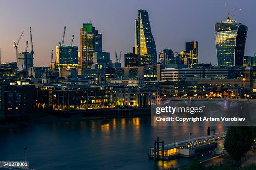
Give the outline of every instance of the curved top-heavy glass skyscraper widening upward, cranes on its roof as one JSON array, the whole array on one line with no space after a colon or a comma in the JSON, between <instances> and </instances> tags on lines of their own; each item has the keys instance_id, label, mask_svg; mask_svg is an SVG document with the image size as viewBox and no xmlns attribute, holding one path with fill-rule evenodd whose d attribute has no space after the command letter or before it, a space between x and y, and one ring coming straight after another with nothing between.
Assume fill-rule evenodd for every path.
<instances>
[{"instance_id":1,"label":"curved top-heavy glass skyscraper widening upward, cranes on its roof","mask_svg":"<svg viewBox=\"0 0 256 170\"><path fill-rule=\"evenodd\" d=\"M243 65L248 27L229 16L226 21L215 23L215 43L218 66Z\"/></svg>"}]
</instances>

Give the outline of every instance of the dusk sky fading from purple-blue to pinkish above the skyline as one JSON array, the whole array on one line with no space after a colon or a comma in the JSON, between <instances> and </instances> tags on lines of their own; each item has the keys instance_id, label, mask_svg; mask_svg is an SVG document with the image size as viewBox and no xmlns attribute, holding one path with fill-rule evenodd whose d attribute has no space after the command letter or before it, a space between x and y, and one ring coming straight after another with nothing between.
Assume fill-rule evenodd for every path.
<instances>
[{"instance_id":1,"label":"dusk sky fading from purple-blue to pinkish above the skyline","mask_svg":"<svg viewBox=\"0 0 256 170\"><path fill-rule=\"evenodd\" d=\"M235 19L248 26L245 55L256 53L256 1L254 0L1 0L0 48L1 63L14 62L13 40L21 32L18 51L25 51L32 27L34 65L49 66L51 50L61 40L64 26L64 45L69 45L74 34L74 46L80 49L82 24L89 22L102 33L102 50L110 52L115 61L118 54L132 52L135 42L137 10L147 10L151 30L159 53L165 47L174 52L185 50L186 41L199 42L199 62L217 63L214 23L226 20L227 9L241 8ZM123 55L122 55L123 66Z\"/></svg>"}]
</instances>

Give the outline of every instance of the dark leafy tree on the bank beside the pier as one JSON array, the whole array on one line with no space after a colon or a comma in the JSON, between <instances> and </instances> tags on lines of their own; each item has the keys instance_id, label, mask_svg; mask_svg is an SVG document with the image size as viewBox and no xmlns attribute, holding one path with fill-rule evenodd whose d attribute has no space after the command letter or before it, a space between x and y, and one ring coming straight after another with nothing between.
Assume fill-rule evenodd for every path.
<instances>
[{"instance_id":1,"label":"dark leafy tree on the bank beside the pier","mask_svg":"<svg viewBox=\"0 0 256 170\"><path fill-rule=\"evenodd\" d=\"M224 142L224 148L236 162L251 149L253 138L247 126L230 126Z\"/></svg>"}]
</instances>

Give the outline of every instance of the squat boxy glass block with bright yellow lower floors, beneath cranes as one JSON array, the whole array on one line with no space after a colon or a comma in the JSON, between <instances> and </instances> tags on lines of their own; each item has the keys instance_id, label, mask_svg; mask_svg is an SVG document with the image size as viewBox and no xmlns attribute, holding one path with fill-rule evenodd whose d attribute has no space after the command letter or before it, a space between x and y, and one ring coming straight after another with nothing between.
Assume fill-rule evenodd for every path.
<instances>
[{"instance_id":1,"label":"squat boxy glass block with bright yellow lower floors, beneath cranes","mask_svg":"<svg viewBox=\"0 0 256 170\"><path fill-rule=\"evenodd\" d=\"M77 68L78 47L77 46L56 46L56 68Z\"/></svg>"}]
</instances>

